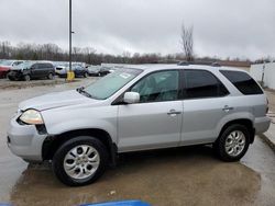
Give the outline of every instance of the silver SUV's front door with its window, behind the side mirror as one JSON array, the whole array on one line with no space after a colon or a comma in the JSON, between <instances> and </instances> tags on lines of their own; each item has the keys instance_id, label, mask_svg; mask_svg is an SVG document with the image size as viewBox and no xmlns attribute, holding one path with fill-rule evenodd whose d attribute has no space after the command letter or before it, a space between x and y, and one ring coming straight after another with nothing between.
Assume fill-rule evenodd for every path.
<instances>
[{"instance_id":1,"label":"silver SUV's front door with its window, behind the side mirror","mask_svg":"<svg viewBox=\"0 0 275 206\"><path fill-rule=\"evenodd\" d=\"M130 89L141 100L119 105L119 151L178 146L183 114L178 88L179 71L167 70L150 73Z\"/></svg>"}]
</instances>

